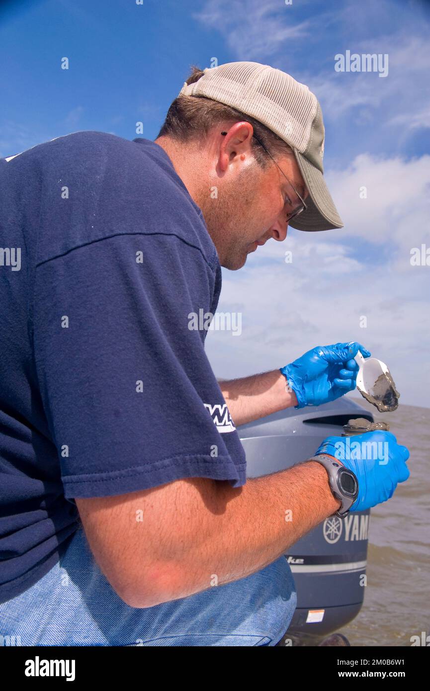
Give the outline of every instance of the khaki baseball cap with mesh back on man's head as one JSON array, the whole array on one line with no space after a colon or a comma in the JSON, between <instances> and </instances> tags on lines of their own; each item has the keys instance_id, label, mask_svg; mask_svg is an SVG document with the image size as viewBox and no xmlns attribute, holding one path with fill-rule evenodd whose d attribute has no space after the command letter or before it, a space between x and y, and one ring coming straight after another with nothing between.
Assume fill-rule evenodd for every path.
<instances>
[{"instance_id":1,"label":"khaki baseball cap with mesh back on man's head","mask_svg":"<svg viewBox=\"0 0 430 691\"><path fill-rule=\"evenodd\" d=\"M308 86L258 62L227 62L203 73L194 84L185 82L179 95L205 96L236 108L259 120L294 151L309 197L306 211L290 225L307 231L342 228L324 180L321 106Z\"/></svg>"}]
</instances>

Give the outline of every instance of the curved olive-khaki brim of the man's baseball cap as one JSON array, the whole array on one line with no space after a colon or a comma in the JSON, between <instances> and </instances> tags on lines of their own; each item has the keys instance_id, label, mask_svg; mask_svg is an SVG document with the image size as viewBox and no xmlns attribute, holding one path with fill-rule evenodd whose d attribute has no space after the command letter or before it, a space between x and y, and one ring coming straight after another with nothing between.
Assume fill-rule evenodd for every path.
<instances>
[{"instance_id":1,"label":"curved olive-khaki brim of the man's baseball cap","mask_svg":"<svg viewBox=\"0 0 430 691\"><path fill-rule=\"evenodd\" d=\"M297 230L317 231L343 228L344 223L330 196L324 176L297 149L293 149L299 169L309 191L306 211L292 218L289 224Z\"/></svg>"}]
</instances>

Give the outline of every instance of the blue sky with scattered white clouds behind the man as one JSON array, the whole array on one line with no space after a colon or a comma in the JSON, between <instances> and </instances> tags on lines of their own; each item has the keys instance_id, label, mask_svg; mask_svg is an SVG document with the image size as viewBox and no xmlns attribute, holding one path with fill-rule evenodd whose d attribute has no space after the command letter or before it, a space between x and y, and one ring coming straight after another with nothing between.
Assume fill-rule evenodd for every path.
<instances>
[{"instance_id":1,"label":"blue sky with scattered white clouds behind the man","mask_svg":"<svg viewBox=\"0 0 430 691\"><path fill-rule=\"evenodd\" d=\"M209 358L219 376L243 376L359 340L389 364L404 403L429 406L430 266L410 263L413 247L430 247L429 30L424 0L3 2L0 156L78 130L132 139L137 121L154 139L189 66L212 58L292 74L321 102L345 227L291 229L225 271L218 310L240 311L242 334L209 333ZM336 72L346 50L388 55L388 75Z\"/></svg>"}]
</instances>

